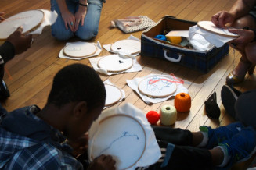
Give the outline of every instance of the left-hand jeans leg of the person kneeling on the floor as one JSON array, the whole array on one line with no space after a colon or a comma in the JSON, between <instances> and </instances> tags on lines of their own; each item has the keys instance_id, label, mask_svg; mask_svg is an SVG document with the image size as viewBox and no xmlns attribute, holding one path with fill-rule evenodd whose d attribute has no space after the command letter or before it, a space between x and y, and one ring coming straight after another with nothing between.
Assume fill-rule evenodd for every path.
<instances>
[{"instance_id":1,"label":"left-hand jeans leg of the person kneeling on the floor","mask_svg":"<svg viewBox=\"0 0 256 170\"><path fill-rule=\"evenodd\" d=\"M71 0L66 0L66 3L70 12L74 13L77 5ZM65 41L71 37L74 37L74 33L70 30L70 28L66 29L65 27L65 23L62 19L61 12L59 11L59 5L57 4L56 0L51 0L51 10L56 11L58 14L56 22L51 26L52 36L56 37L56 39L60 41Z\"/></svg>"}]
</instances>

